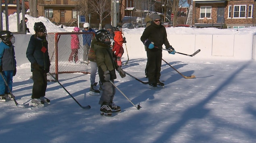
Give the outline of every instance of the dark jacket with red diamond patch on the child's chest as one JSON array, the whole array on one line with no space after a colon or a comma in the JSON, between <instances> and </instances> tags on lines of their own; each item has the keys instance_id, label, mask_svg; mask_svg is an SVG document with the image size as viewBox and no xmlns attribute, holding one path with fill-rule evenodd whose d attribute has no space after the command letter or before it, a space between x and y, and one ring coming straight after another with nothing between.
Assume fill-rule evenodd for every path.
<instances>
[{"instance_id":1,"label":"dark jacket with red diamond patch on the child's chest","mask_svg":"<svg viewBox=\"0 0 256 143\"><path fill-rule=\"evenodd\" d=\"M40 40L35 37L35 34L31 36L29 45L27 47L27 59L31 64L37 62L46 73L49 73L50 59L48 54L48 42L47 40ZM31 71L34 68L31 66Z\"/></svg>"}]
</instances>

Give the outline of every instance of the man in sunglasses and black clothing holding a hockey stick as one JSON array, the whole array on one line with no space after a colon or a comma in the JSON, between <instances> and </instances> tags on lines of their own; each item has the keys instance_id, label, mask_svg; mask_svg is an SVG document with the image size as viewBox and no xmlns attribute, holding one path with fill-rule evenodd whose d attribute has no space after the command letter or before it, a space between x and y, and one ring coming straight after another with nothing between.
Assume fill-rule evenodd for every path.
<instances>
[{"instance_id":1,"label":"man in sunglasses and black clothing holding a hockey stick","mask_svg":"<svg viewBox=\"0 0 256 143\"><path fill-rule=\"evenodd\" d=\"M148 83L151 89L155 89L157 85L164 87L164 83L160 82L160 71L162 64L162 45L171 50L170 54L175 54L174 48L167 40L165 27L161 25L160 16L152 14L152 24L145 28L140 40L147 47L148 56Z\"/></svg>"}]
</instances>

